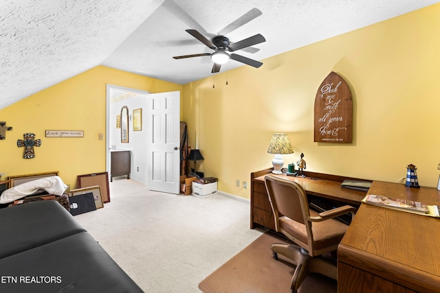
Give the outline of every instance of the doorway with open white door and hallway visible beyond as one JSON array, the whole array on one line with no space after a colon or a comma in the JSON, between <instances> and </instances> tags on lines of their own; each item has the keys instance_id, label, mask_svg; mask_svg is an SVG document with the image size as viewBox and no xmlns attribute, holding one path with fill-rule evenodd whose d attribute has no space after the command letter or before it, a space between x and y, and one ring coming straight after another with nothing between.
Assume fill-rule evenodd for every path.
<instances>
[{"instance_id":1,"label":"doorway with open white door and hallway visible beyond","mask_svg":"<svg viewBox=\"0 0 440 293\"><path fill-rule=\"evenodd\" d=\"M124 131L122 113L129 116ZM148 93L107 84L107 172L111 173L111 152L129 150L133 180L151 190L179 194L179 125L179 91Z\"/></svg>"}]
</instances>

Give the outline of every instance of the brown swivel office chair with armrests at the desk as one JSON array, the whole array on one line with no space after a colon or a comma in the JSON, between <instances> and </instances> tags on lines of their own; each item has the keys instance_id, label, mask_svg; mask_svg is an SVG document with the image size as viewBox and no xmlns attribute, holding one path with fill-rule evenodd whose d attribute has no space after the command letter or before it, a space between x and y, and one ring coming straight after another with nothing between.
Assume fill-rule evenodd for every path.
<instances>
[{"instance_id":1,"label":"brown swivel office chair with armrests at the desk","mask_svg":"<svg viewBox=\"0 0 440 293\"><path fill-rule=\"evenodd\" d=\"M311 272L336 280L336 263L322 254L337 250L349 227L333 218L345 213L351 213L353 218L356 209L347 205L318 213L309 209L305 190L298 183L266 175L265 186L274 213L275 230L297 244L272 244L270 248L274 259L278 259L280 253L296 264L292 293L296 293Z\"/></svg>"}]
</instances>

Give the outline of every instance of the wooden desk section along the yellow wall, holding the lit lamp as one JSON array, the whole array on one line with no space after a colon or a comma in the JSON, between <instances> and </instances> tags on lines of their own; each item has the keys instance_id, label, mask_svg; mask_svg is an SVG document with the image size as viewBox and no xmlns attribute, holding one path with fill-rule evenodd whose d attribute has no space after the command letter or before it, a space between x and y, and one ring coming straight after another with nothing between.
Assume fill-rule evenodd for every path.
<instances>
[{"instance_id":1,"label":"wooden desk section along the yellow wall, holding the lit lamp","mask_svg":"<svg viewBox=\"0 0 440 293\"><path fill-rule=\"evenodd\" d=\"M275 229L274 214L270 207L269 198L267 196L264 184L264 176L270 174L272 168L250 174L251 180L251 196L250 196L250 228L256 225L265 226ZM344 180L361 180L358 178L334 176L329 174L305 172L306 178L283 175L283 179L292 180L299 183L305 189L308 196L318 196L325 198L336 207L351 204L359 207L361 200L365 197L366 192L346 189L341 187Z\"/></svg>"}]
</instances>

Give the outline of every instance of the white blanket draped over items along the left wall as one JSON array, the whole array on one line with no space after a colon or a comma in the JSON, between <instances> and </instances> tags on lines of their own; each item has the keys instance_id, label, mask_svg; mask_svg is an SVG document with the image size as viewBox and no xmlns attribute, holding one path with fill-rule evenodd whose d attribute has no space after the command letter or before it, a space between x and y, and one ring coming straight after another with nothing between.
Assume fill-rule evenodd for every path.
<instances>
[{"instance_id":1,"label":"white blanket draped over items along the left wall","mask_svg":"<svg viewBox=\"0 0 440 293\"><path fill-rule=\"evenodd\" d=\"M59 176L50 176L17 185L10 189L6 189L0 196L0 204L7 204L14 200L19 200L25 196L29 196L39 189L44 189L48 194L61 196L67 189L67 185Z\"/></svg>"}]
</instances>

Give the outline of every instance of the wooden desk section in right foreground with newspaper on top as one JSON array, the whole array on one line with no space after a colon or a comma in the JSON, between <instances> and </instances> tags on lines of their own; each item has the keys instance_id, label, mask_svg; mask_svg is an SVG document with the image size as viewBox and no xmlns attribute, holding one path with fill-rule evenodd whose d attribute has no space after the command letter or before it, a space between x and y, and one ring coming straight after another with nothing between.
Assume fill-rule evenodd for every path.
<instances>
[{"instance_id":1,"label":"wooden desk section in right foreground with newspaper on top","mask_svg":"<svg viewBox=\"0 0 440 293\"><path fill-rule=\"evenodd\" d=\"M440 207L435 188L374 181L369 194ZM362 204L338 248L338 292L440 292L440 219Z\"/></svg>"}]
</instances>

